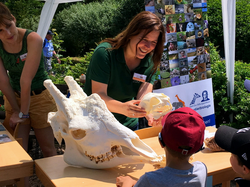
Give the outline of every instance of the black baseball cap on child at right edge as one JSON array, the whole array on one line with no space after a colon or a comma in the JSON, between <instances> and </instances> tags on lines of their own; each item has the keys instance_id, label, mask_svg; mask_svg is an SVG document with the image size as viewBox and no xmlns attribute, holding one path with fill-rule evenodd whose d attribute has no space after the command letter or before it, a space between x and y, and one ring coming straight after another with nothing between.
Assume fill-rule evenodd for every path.
<instances>
[{"instance_id":1,"label":"black baseball cap on child at right edge","mask_svg":"<svg viewBox=\"0 0 250 187\"><path fill-rule=\"evenodd\" d=\"M250 169L250 127L235 129L220 126L215 133L215 142L226 151L237 156L239 165Z\"/></svg>"}]
</instances>

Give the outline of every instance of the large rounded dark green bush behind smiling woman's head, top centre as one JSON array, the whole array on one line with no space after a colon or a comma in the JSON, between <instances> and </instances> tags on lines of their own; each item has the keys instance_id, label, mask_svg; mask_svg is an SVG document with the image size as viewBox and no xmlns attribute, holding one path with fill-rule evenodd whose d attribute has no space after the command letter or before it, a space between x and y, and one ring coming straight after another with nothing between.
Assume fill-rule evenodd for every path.
<instances>
[{"instance_id":1,"label":"large rounded dark green bush behind smiling woman's head, top centre","mask_svg":"<svg viewBox=\"0 0 250 187\"><path fill-rule=\"evenodd\" d=\"M62 34L68 56L81 56L96 42L114 37L137 13L144 1L106 0L89 4L77 3L55 16L53 28Z\"/></svg>"}]
</instances>

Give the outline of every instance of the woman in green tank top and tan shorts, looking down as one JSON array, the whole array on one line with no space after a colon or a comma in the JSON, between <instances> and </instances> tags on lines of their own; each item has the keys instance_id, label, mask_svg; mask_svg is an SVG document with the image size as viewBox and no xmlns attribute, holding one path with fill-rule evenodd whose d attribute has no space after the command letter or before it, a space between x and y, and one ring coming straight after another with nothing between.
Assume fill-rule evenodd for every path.
<instances>
[{"instance_id":1,"label":"woman in green tank top and tan shorts, looking down","mask_svg":"<svg viewBox=\"0 0 250 187\"><path fill-rule=\"evenodd\" d=\"M3 125L22 138L26 151L33 127L43 156L49 157L57 154L47 122L56 104L43 86L49 77L44 69L42 45L43 39L36 32L17 27L15 17L0 3L0 90L6 115Z\"/></svg>"}]
</instances>

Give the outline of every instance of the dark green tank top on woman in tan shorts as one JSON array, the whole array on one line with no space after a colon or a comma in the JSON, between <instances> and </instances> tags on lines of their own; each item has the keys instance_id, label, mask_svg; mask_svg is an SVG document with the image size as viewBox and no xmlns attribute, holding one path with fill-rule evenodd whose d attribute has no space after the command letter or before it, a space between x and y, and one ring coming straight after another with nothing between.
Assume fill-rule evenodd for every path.
<instances>
[{"instance_id":1,"label":"dark green tank top on woman in tan shorts","mask_svg":"<svg viewBox=\"0 0 250 187\"><path fill-rule=\"evenodd\" d=\"M25 64L25 55L27 55L27 36L32 31L26 30L23 37L22 49L19 53L8 53L3 48L3 43L0 40L0 57L2 58L3 65L9 71L10 84L15 91L20 91L20 78ZM47 72L44 69L43 53L41 54L40 65L32 80L31 90L42 89L43 81L49 79Z\"/></svg>"}]
</instances>

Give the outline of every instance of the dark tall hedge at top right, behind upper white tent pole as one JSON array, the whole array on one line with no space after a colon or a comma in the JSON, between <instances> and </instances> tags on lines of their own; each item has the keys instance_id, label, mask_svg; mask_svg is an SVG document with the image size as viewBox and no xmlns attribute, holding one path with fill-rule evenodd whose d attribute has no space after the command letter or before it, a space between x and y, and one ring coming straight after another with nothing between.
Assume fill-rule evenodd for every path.
<instances>
[{"instance_id":1,"label":"dark tall hedge at top right, behind upper white tent pole","mask_svg":"<svg viewBox=\"0 0 250 187\"><path fill-rule=\"evenodd\" d=\"M221 0L208 0L208 21L209 37L215 46L220 50L224 48L223 21ZM250 1L236 1L236 41L235 41L235 59L250 62L248 49L250 47Z\"/></svg>"}]
</instances>

